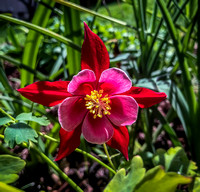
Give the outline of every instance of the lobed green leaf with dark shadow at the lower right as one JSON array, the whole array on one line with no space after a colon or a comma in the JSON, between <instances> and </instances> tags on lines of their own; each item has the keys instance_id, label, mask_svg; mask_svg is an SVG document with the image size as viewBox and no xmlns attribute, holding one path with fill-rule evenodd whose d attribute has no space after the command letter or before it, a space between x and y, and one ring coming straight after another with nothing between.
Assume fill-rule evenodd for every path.
<instances>
[{"instance_id":1,"label":"lobed green leaf with dark shadow at the lower right","mask_svg":"<svg viewBox=\"0 0 200 192\"><path fill-rule=\"evenodd\" d=\"M187 158L185 151L181 147L170 148L167 152L163 149L157 150L157 155L153 158L154 165L162 165L165 171L178 172L180 174L195 175L197 166Z\"/></svg>"}]
</instances>

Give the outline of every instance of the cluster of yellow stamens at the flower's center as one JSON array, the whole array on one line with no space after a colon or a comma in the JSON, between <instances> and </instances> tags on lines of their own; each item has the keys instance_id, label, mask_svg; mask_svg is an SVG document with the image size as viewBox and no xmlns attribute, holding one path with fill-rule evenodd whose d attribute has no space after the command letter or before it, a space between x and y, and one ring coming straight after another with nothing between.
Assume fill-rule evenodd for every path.
<instances>
[{"instance_id":1,"label":"cluster of yellow stamens at the flower's center","mask_svg":"<svg viewBox=\"0 0 200 192\"><path fill-rule=\"evenodd\" d=\"M86 95L86 97L84 98L86 100L85 106L88 110L90 110L90 113L94 114L94 119L96 119L97 117L102 118L103 114L110 115L110 98L108 97L108 95L103 96L102 94L103 90L94 90L91 91L91 95Z\"/></svg>"}]
</instances>

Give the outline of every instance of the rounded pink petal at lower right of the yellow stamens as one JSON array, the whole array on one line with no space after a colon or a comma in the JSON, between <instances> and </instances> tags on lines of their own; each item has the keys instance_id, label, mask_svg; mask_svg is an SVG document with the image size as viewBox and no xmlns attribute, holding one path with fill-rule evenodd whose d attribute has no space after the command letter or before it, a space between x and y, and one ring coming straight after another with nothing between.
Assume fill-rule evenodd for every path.
<instances>
[{"instance_id":1,"label":"rounded pink petal at lower right of the yellow stamens","mask_svg":"<svg viewBox=\"0 0 200 192\"><path fill-rule=\"evenodd\" d=\"M117 126L133 124L137 119L138 104L130 96L116 95L111 96L111 110L108 118Z\"/></svg>"}]
</instances>

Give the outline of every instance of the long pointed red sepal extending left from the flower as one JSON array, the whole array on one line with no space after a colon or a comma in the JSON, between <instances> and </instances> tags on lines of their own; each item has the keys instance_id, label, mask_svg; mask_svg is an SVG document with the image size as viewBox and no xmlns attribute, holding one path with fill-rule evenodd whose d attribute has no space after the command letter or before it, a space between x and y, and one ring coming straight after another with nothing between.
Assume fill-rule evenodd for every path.
<instances>
[{"instance_id":1,"label":"long pointed red sepal extending left from the flower","mask_svg":"<svg viewBox=\"0 0 200 192\"><path fill-rule=\"evenodd\" d=\"M71 96L67 91L68 84L69 81L39 81L18 89L17 91L35 103L52 107Z\"/></svg>"}]
</instances>

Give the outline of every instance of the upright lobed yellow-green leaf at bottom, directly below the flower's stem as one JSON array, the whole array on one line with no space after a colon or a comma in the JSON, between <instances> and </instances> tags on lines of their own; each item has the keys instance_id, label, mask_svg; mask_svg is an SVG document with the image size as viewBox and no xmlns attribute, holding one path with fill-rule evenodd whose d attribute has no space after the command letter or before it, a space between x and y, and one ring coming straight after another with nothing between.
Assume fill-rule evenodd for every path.
<instances>
[{"instance_id":1,"label":"upright lobed yellow-green leaf at bottom, directly below the flower's stem","mask_svg":"<svg viewBox=\"0 0 200 192\"><path fill-rule=\"evenodd\" d=\"M131 161L131 168L126 175L125 169L120 169L107 185L104 192L131 192L144 177L145 169L140 156L135 156Z\"/></svg>"}]
</instances>

